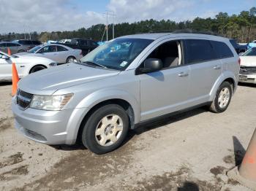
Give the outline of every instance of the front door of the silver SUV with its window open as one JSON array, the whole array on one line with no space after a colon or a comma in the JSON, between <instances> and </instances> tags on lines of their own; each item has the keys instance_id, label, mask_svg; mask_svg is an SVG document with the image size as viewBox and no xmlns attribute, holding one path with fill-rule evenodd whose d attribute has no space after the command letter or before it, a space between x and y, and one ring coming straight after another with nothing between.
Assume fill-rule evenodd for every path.
<instances>
[{"instance_id":1,"label":"front door of the silver SUV with its window open","mask_svg":"<svg viewBox=\"0 0 256 191\"><path fill-rule=\"evenodd\" d=\"M141 121L186 108L190 69L182 61L182 52L182 41L167 41L159 43L148 55L147 58L162 60L164 68L160 71L138 74Z\"/></svg>"}]
</instances>

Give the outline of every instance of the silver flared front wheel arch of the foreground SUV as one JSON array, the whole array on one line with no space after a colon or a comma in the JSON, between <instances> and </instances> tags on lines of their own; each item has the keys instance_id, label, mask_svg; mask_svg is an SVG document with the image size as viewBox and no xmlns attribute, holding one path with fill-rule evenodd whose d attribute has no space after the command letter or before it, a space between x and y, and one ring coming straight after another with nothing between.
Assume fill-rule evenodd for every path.
<instances>
[{"instance_id":1,"label":"silver flared front wheel arch of the foreground SUV","mask_svg":"<svg viewBox=\"0 0 256 191\"><path fill-rule=\"evenodd\" d=\"M81 130L88 117L96 109L106 104L117 104L124 108L129 116L130 128L133 129L135 124L140 121L140 106L132 95L129 95L124 90L99 90L83 98L76 106L77 109L82 111L78 115L74 113L71 117L77 119L76 124L72 120L69 121L70 124L67 127L68 144L73 144L73 141L80 139Z\"/></svg>"}]
</instances>

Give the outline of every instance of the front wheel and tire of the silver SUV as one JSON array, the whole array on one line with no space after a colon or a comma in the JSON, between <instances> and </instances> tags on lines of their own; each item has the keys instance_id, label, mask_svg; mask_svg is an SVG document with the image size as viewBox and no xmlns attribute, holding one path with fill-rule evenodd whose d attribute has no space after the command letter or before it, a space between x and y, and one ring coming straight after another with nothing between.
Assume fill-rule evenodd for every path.
<instances>
[{"instance_id":1,"label":"front wheel and tire of the silver SUV","mask_svg":"<svg viewBox=\"0 0 256 191\"><path fill-rule=\"evenodd\" d=\"M129 117L124 109L116 104L108 104L90 115L81 139L85 147L100 155L121 146L128 130Z\"/></svg>"}]
</instances>

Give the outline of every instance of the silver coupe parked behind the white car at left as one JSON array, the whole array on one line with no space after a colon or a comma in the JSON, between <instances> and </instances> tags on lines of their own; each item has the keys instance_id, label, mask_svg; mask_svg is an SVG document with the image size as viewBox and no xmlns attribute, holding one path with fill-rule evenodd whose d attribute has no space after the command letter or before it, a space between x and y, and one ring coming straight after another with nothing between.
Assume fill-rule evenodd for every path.
<instances>
[{"instance_id":1,"label":"silver coupe parked behind the white car at left","mask_svg":"<svg viewBox=\"0 0 256 191\"><path fill-rule=\"evenodd\" d=\"M49 58L56 63L71 63L83 58L82 50L72 49L61 44L44 44L32 48L28 52L21 52L16 55L38 56Z\"/></svg>"}]
</instances>

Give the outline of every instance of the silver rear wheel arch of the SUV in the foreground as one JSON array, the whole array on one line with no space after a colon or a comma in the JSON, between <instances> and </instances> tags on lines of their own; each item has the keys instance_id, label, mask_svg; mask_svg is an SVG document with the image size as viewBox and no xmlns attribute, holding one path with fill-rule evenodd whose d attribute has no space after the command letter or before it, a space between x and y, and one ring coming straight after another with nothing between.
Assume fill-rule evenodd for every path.
<instances>
[{"instance_id":1,"label":"silver rear wheel arch of the SUV in the foreground","mask_svg":"<svg viewBox=\"0 0 256 191\"><path fill-rule=\"evenodd\" d=\"M228 79L228 78L233 79L233 81L236 83L236 84L235 84L235 90L236 90L237 82L236 82L236 77L235 77L235 75L234 75L233 72L231 72L231 71L224 71L224 72L222 73L222 75L220 75L219 78L216 80L216 82L214 83L214 86L211 88L210 100L209 100L209 101L213 101L213 100L214 100L215 95L216 95L216 93L217 93L217 90L218 90L219 86L222 84L222 82L225 81L225 79ZM235 90L234 90L234 91L235 91Z\"/></svg>"}]
</instances>

